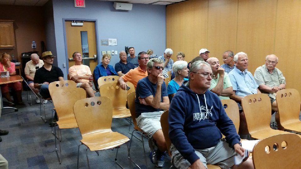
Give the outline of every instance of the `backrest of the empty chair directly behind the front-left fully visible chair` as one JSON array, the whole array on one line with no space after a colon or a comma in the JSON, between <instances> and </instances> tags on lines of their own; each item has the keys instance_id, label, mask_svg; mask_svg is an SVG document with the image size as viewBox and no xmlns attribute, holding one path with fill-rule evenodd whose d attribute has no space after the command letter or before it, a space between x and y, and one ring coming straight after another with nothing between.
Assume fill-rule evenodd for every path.
<instances>
[{"instance_id":1,"label":"backrest of the empty chair directly behind the front-left fully visible chair","mask_svg":"<svg viewBox=\"0 0 301 169\"><path fill-rule=\"evenodd\" d=\"M52 93L52 100L59 120L74 119L73 105L84 98L86 98L86 91L80 87L56 89Z\"/></svg>"}]
</instances>

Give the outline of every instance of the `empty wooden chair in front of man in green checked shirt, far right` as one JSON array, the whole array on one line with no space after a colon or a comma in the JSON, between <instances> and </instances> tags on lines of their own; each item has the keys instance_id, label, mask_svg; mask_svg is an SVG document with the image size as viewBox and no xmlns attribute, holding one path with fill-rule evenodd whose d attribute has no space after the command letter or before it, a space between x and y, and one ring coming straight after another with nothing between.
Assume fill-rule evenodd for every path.
<instances>
[{"instance_id":1,"label":"empty wooden chair in front of man in green checked shirt, far right","mask_svg":"<svg viewBox=\"0 0 301 169\"><path fill-rule=\"evenodd\" d=\"M282 89L276 94L281 125L286 130L301 132L300 94L296 89Z\"/></svg>"}]
</instances>

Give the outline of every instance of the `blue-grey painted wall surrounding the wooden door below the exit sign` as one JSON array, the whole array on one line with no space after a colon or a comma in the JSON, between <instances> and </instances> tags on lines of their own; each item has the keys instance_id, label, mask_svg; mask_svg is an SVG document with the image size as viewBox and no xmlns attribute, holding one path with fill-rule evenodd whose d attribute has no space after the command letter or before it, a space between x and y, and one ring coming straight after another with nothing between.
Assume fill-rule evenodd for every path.
<instances>
[{"instance_id":1,"label":"blue-grey painted wall surrounding the wooden door below the exit sign","mask_svg":"<svg viewBox=\"0 0 301 169\"><path fill-rule=\"evenodd\" d=\"M63 67L66 63L63 18L97 19L98 56L101 56L102 50L117 50L119 53L125 46L133 46L136 55L148 49L154 50L158 56L164 53L165 5L133 3L131 11L124 11L114 9L113 2L109 1L86 0L86 8L75 8L74 0L53 0L52 4L57 61L65 78L68 66ZM46 34L50 32L47 30ZM117 46L101 46L101 40L108 38L117 38ZM49 42L47 45L50 45ZM110 65L115 66L118 61L119 55L113 55Z\"/></svg>"}]
</instances>

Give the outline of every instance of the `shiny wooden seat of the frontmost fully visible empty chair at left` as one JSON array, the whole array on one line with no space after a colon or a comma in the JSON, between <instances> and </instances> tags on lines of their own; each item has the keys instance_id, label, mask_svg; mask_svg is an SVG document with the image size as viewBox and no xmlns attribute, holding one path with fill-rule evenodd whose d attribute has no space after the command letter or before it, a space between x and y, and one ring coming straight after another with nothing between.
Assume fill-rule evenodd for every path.
<instances>
[{"instance_id":1,"label":"shiny wooden seat of the frontmost fully visible empty chair at left","mask_svg":"<svg viewBox=\"0 0 301 169\"><path fill-rule=\"evenodd\" d=\"M93 134L83 135L81 142L89 147L90 151L98 151L115 148L129 140L128 137L118 132L98 131Z\"/></svg>"}]
</instances>

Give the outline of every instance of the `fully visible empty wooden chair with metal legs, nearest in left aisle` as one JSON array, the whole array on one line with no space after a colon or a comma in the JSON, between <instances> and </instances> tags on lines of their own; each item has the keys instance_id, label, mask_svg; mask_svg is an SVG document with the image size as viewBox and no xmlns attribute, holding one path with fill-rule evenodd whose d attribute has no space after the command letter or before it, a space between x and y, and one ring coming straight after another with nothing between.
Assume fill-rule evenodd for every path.
<instances>
[{"instance_id":1,"label":"fully visible empty wooden chair with metal legs, nearest in left aisle","mask_svg":"<svg viewBox=\"0 0 301 169\"><path fill-rule=\"evenodd\" d=\"M80 129L82 140L81 144L87 146L86 158L89 165L87 150L100 151L117 148L115 162L117 162L117 153L120 145L130 139L111 129L113 116L113 103L107 97L85 98L77 101L73 106L75 118ZM77 168L79 160L79 148L77 153ZM98 152L97 152L98 154ZM99 155L99 154L98 154ZM120 166L122 168L122 166Z\"/></svg>"}]
</instances>

